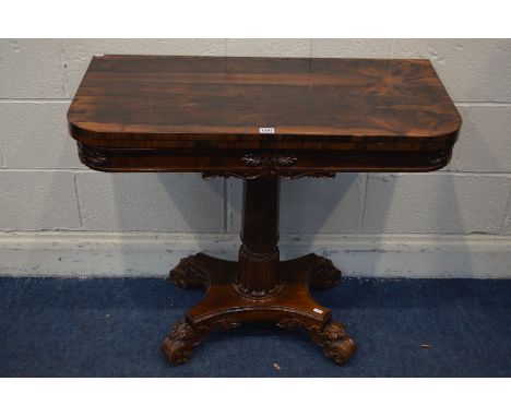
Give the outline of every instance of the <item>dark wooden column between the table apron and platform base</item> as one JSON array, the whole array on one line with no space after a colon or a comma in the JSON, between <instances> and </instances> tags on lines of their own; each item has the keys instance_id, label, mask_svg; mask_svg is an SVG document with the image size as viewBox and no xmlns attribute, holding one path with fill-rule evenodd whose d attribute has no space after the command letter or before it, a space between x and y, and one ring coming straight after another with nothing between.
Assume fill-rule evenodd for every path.
<instances>
[{"instance_id":1,"label":"dark wooden column between the table apron and platform base","mask_svg":"<svg viewBox=\"0 0 511 417\"><path fill-rule=\"evenodd\" d=\"M235 286L249 297L268 297L278 289L278 177L245 180Z\"/></svg>"}]
</instances>

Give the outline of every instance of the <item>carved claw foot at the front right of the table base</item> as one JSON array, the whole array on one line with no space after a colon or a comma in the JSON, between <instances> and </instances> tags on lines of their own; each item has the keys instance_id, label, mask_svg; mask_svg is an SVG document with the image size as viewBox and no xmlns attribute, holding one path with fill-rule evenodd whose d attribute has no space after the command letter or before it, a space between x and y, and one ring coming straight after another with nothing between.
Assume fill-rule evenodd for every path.
<instances>
[{"instance_id":1,"label":"carved claw foot at the front right of the table base","mask_svg":"<svg viewBox=\"0 0 511 417\"><path fill-rule=\"evenodd\" d=\"M323 348L323 354L337 365L346 364L357 349L355 342L346 335L344 324L332 322L322 331L310 331L312 339Z\"/></svg>"}]
</instances>

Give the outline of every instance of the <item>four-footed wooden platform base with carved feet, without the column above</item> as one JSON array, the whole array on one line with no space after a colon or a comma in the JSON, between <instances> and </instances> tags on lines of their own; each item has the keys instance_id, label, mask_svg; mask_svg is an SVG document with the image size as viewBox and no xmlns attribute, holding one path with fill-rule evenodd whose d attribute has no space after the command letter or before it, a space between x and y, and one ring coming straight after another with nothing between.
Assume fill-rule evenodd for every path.
<instances>
[{"instance_id":1,"label":"four-footed wooden platform base with carved feet, without the column above","mask_svg":"<svg viewBox=\"0 0 511 417\"><path fill-rule=\"evenodd\" d=\"M311 288L328 288L341 278L332 262L308 254L278 264L281 285L271 296L253 298L236 285L238 263L198 253L185 258L170 271L169 279L183 288L204 288L204 299L188 310L186 321L175 324L162 344L170 364L182 364L209 333L228 330L243 322L274 322L286 330L304 329L324 355L338 365L356 350L344 325L332 321L331 311L316 302Z\"/></svg>"}]
</instances>

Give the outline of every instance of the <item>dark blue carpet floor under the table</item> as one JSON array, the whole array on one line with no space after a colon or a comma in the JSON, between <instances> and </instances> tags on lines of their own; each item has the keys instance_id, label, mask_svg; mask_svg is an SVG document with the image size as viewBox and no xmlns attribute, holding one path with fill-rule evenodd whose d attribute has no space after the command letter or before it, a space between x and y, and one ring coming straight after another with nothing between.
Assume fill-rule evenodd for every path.
<instances>
[{"instance_id":1,"label":"dark blue carpet floor under the table","mask_svg":"<svg viewBox=\"0 0 511 417\"><path fill-rule=\"evenodd\" d=\"M167 365L159 344L201 295L164 279L0 278L0 377L511 377L511 279L344 278L313 293L358 344L344 367L264 324Z\"/></svg>"}]
</instances>

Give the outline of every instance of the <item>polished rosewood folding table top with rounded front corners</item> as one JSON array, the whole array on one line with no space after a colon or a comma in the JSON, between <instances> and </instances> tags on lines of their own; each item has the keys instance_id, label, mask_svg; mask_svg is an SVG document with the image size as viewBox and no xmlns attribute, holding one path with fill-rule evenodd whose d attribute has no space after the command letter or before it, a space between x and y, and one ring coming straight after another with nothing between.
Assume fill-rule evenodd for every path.
<instances>
[{"instance_id":1,"label":"polished rosewood folding table top with rounded front corners","mask_svg":"<svg viewBox=\"0 0 511 417\"><path fill-rule=\"evenodd\" d=\"M84 146L178 151L439 152L461 127L428 60L116 55L68 121Z\"/></svg>"}]
</instances>

